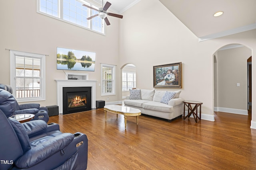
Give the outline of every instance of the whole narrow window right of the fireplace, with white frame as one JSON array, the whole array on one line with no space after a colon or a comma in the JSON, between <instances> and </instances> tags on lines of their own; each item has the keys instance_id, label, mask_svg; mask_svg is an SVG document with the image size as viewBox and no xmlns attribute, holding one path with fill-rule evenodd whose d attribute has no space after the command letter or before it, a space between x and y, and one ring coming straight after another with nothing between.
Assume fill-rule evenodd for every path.
<instances>
[{"instance_id":1,"label":"whole narrow window right of the fireplace, with white frame","mask_svg":"<svg viewBox=\"0 0 256 170\"><path fill-rule=\"evenodd\" d=\"M116 66L109 64L101 64L101 95L115 95L115 72Z\"/></svg>"}]
</instances>

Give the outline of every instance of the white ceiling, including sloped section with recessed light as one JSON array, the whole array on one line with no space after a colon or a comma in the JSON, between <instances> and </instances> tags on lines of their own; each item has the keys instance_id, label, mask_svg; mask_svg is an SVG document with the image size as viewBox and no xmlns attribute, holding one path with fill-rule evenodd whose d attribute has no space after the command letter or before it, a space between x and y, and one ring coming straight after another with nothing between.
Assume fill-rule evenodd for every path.
<instances>
[{"instance_id":1,"label":"white ceiling, including sloped section with recessed light","mask_svg":"<svg viewBox=\"0 0 256 170\"><path fill-rule=\"evenodd\" d=\"M102 4L102 0L94 0ZM103 0L110 10L121 14L140 0ZM199 41L256 29L256 0L159 0ZM224 14L214 17L213 14Z\"/></svg>"}]
</instances>

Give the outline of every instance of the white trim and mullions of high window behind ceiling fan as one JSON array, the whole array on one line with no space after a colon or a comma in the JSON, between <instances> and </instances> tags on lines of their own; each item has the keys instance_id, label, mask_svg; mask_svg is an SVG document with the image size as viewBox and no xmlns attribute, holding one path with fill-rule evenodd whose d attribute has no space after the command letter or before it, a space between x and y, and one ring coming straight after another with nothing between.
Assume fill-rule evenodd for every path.
<instances>
[{"instance_id":1,"label":"white trim and mullions of high window behind ceiling fan","mask_svg":"<svg viewBox=\"0 0 256 170\"><path fill-rule=\"evenodd\" d=\"M38 13L38 14L42 14L42 15L44 15L44 16L48 16L48 17L50 17L50 18L54 18L54 19L56 19L56 20L59 20L59 21L63 21L63 22L66 22L66 23L69 23L69 24L71 24L71 25L74 25L74 26L77 26L77 27L80 27L80 28L83 28L83 29L87 29L87 30L89 30L89 31L92 31L92 32L95 32L95 33L98 33L98 34L101 34L101 35L106 35L106 24L105 24L105 22L102 20L102 23L103 23L103 29L102 29L102 31L103 31L103 33L101 33L101 32L98 32L98 31L94 31L93 29L92 29L92 21L91 20L89 20L89 25L90 25L90 27L91 28L87 28L87 27L83 27L83 26L81 26L81 25L77 25L76 23L72 23L72 22L70 22L70 21L66 21L66 20L63 20L63 18L62 18L62 16L61 15L63 15L63 10L60 10L60 8L61 7L63 7L63 2L60 2L61 0L58 0L58 4L59 4L59 6L58 6L58 10L59 10L59 12L58 12L58 17L54 17L54 16L51 16L51 15L49 15L49 14L46 14L46 13L44 13L44 12L41 12L40 11L40 0L36 0L36 12ZM81 3L85 3L85 2L82 2L81 0L77 0L77 1L79 1L79 2L81 2ZM86 3L89 3L89 2L86 2ZM94 5L93 3L89 3L90 5L93 5L93 6L96 6L96 5ZM88 10L91 10L91 9L88 9ZM91 12L90 12L91 13Z\"/></svg>"}]
</instances>

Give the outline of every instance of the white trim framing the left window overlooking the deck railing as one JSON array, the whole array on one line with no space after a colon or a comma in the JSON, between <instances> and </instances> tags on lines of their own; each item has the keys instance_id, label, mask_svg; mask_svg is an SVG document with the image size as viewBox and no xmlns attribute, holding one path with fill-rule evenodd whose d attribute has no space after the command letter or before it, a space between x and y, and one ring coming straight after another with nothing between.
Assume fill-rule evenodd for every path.
<instances>
[{"instance_id":1,"label":"white trim framing the left window overlooking the deck railing","mask_svg":"<svg viewBox=\"0 0 256 170\"><path fill-rule=\"evenodd\" d=\"M41 82L40 82L40 97L34 98L16 98L16 55L24 55L30 57L38 57L41 59ZM22 51L14 51L10 50L10 86L13 89L13 96L16 98L17 102L34 102L34 101L42 101L46 100L46 55L35 54L35 53L27 53Z\"/></svg>"}]
</instances>

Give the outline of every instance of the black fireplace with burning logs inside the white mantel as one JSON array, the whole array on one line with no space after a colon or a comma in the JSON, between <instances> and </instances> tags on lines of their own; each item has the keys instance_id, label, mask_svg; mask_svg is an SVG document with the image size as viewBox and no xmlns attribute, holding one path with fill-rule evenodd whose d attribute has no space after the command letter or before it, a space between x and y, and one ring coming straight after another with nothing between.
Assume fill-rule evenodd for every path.
<instances>
[{"instance_id":1,"label":"black fireplace with burning logs inside the white mantel","mask_svg":"<svg viewBox=\"0 0 256 170\"><path fill-rule=\"evenodd\" d=\"M63 87L63 115L91 110L91 87Z\"/></svg>"}]
</instances>

